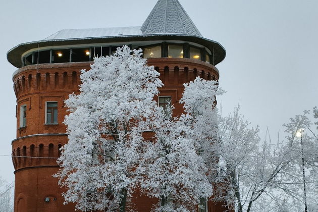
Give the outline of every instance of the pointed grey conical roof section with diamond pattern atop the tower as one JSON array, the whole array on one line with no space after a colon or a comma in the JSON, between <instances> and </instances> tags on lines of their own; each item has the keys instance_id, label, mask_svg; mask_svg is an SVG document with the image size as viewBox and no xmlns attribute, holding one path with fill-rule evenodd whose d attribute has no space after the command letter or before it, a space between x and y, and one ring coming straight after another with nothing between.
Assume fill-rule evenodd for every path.
<instances>
[{"instance_id":1,"label":"pointed grey conical roof section with diamond pattern atop the tower","mask_svg":"<svg viewBox=\"0 0 318 212\"><path fill-rule=\"evenodd\" d=\"M143 23L144 34L187 34L202 37L178 0L158 0Z\"/></svg>"}]
</instances>

